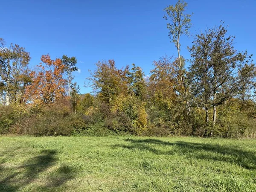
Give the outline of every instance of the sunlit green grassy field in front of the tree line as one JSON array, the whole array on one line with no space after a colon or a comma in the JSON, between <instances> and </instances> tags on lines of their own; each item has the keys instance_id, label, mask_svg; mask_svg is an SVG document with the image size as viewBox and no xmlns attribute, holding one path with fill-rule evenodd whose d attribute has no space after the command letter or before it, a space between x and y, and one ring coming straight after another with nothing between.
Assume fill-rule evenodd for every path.
<instances>
[{"instance_id":1,"label":"sunlit green grassy field in front of the tree line","mask_svg":"<svg viewBox=\"0 0 256 192\"><path fill-rule=\"evenodd\" d=\"M0 191L256 191L256 140L0 137Z\"/></svg>"}]
</instances>

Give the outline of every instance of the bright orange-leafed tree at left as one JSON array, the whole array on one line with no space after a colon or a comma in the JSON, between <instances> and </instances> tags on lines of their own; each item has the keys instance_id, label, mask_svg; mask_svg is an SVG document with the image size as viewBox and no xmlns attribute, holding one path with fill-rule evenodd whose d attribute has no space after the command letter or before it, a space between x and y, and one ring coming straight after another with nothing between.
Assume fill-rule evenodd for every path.
<instances>
[{"instance_id":1,"label":"bright orange-leafed tree at left","mask_svg":"<svg viewBox=\"0 0 256 192\"><path fill-rule=\"evenodd\" d=\"M32 102L50 104L65 96L67 80L64 79L65 65L60 58L52 60L42 55L37 71L31 72L32 83L27 86L27 96Z\"/></svg>"}]
</instances>

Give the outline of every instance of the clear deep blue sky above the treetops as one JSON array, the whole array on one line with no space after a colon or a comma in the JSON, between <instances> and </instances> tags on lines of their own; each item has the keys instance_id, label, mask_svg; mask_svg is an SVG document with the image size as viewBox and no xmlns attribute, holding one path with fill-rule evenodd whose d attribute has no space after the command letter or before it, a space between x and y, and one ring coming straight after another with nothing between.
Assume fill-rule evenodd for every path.
<instances>
[{"instance_id":1,"label":"clear deep blue sky above the treetops","mask_svg":"<svg viewBox=\"0 0 256 192\"><path fill-rule=\"evenodd\" d=\"M236 36L235 48L256 54L256 0L187 0L193 12L191 34L207 27L229 25ZM81 73L74 73L81 93L84 79L99 60L114 59L118 67L135 63L145 75L152 61L177 55L169 42L163 9L176 0L2 0L0 37L25 47L40 63L41 55L52 58L76 56ZM182 37L181 54L193 37ZM255 55L253 58L256 58Z\"/></svg>"}]
</instances>

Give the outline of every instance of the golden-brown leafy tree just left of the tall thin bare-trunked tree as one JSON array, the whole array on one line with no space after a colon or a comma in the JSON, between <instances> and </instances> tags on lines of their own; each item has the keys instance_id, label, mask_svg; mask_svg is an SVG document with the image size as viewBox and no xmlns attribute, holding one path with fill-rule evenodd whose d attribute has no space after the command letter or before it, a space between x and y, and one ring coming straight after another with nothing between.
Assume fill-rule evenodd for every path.
<instances>
[{"instance_id":1,"label":"golden-brown leafy tree just left of the tall thin bare-trunked tree","mask_svg":"<svg viewBox=\"0 0 256 192\"><path fill-rule=\"evenodd\" d=\"M177 77L173 57L165 56L153 61L153 65L147 87L148 116L151 122L159 122L159 126L166 122L175 124L175 110L180 107L180 102L175 90Z\"/></svg>"}]
</instances>

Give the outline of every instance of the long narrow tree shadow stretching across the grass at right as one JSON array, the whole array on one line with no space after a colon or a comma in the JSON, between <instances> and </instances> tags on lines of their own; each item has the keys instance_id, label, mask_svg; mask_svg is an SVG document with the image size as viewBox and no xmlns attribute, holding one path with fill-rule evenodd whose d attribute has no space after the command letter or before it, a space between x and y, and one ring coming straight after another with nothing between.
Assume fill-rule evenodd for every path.
<instances>
[{"instance_id":1,"label":"long narrow tree shadow stretching across the grass at right","mask_svg":"<svg viewBox=\"0 0 256 192\"><path fill-rule=\"evenodd\" d=\"M114 145L113 147L150 151L158 155L186 155L195 159L235 163L245 169L256 169L255 151L242 150L234 145L192 143L184 141L170 143L157 139L126 139L125 141L129 142L130 145ZM170 149L168 147L165 147L165 150L159 149L159 146L161 145L170 146Z\"/></svg>"}]
</instances>

